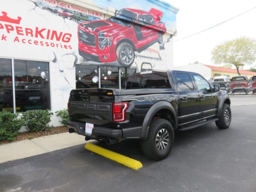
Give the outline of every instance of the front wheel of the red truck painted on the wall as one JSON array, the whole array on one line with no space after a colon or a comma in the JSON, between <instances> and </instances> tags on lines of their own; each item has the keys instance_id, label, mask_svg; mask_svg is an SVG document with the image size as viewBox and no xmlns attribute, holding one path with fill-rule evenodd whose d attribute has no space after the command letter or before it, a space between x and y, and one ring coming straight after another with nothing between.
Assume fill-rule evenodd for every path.
<instances>
[{"instance_id":1,"label":"front wheel of the red truck painted on the wall","mask_svg":"<svg viewBox=\"0 0 256 192\"><path fill-rule=\"evenodd\" d=\"M123 67L130 67L134 61L135 53L128 42L120 43L116 49L117 61Z\"/></svg>"}]
</instances>

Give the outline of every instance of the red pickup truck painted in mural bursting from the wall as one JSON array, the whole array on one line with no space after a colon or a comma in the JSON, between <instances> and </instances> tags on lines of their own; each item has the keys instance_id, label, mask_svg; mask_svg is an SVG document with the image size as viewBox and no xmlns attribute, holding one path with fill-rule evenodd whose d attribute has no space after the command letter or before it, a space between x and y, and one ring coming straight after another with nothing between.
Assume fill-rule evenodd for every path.
<instances>
[{"instance_id":1,"label":"red pickup truck painted in mural bursting from the wall","mask_svg":"<svg viewBox=\"0 0 256 192\"><path fill-rule=\"evenodd\" d=\"M160 22L163 12L123 8L106 20L81 23L78 26L80 56L90 61L118 61L123 67L132 65L135 50L140 53L155 42L162 44L166 32Z\"/></svg>"}]
</instances>

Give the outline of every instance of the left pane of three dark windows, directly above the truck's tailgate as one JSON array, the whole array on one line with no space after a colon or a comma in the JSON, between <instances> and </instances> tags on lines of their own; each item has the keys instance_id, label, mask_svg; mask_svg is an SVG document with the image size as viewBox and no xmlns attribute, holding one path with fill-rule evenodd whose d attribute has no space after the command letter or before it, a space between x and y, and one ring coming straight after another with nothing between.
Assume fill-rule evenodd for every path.
<instances>
[{"instance_id":1,"label":"left pane of three dark windows, directly above the truck's tailgate","mask_svg":"<svg viewBox=\"0 0 256 192\"><path fill-rule=\"evenodd\" d=\"M76 89L98 88L98 66L76 64Z\"/></svg>"}]
</instances>

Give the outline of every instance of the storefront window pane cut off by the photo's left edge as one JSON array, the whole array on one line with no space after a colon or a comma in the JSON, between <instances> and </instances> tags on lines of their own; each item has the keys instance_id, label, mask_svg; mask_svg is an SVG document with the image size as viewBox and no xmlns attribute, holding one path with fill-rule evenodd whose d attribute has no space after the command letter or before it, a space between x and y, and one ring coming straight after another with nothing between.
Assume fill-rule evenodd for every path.
<instances>
[{"instance_id":1,"label":"storefront window pane cut off by the photo's left edge","mask_svg":"<svg viewBox=\"0 0 256 192\"><path fill-rule=\"evenodd\" d=\"M0 58L0 111L13 112L11 59Z\"/></svg>"}]
</instances>

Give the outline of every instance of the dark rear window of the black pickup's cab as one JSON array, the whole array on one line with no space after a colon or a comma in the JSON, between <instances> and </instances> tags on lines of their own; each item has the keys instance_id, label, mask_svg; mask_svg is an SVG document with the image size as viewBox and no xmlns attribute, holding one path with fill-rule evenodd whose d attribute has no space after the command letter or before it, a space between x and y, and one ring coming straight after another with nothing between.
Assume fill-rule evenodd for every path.
<instances>
[{"instance_id":1,"label":"dark rear window of the black pickup's cab","mask_svg":"<svg viewBox=\"0 0 256 192\"><path fill-rule=\"evenodd\" d=\"M167 73L137 74L129 76L125 89L169 89Z\"/></svg>"}]
</instances>

